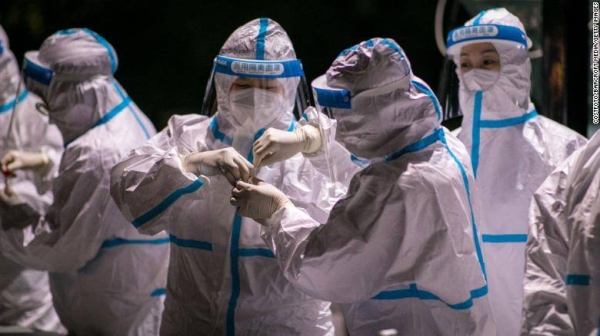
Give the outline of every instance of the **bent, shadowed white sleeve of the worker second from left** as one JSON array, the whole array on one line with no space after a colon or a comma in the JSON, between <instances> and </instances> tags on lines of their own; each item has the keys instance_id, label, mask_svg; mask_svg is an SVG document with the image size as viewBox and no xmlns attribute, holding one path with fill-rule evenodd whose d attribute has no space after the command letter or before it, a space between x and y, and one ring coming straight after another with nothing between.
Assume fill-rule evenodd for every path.
<instances>
[{"instance_id":1,"label":"bent, shadowed white sleeve of the worker second from left","mask_svg":"<svg viewBox=\"0 0 600 336\"><path fill-rule=\"evenodd\" d=\"M25 267L50 272L74 271L93 259L123 225L101 220L116 211L107 192L108 170L99 168L104 159L88 148L67 153L47 213L24 204L0 207L3 253Z\"/></svg>"}]
</instances>

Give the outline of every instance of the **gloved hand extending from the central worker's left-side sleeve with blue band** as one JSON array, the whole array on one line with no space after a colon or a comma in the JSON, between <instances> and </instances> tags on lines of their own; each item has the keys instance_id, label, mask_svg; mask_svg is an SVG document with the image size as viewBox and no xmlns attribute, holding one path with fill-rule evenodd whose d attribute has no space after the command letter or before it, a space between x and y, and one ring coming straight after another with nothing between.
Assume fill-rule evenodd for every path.
<instances>
[{"instance_id":1,"label":"gloved hand extending from the central worker's left-side sleeve with blue band","mask_svg":"<svg viewBox=\"0 0 600 336\"><path fill-rule=\"evenodd\" d=\"M231 185L248 181L254 166L232 147L207 152L190 153L182 157L187 172L200 176L223 175Z\"/></svg>"}]
</instances>

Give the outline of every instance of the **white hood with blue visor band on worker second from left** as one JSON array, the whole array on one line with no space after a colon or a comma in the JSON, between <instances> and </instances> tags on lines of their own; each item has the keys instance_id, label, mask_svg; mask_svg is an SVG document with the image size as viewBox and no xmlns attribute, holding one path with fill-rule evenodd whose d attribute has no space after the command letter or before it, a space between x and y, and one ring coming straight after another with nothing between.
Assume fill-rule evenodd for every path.
<instances>
[{"instance_id":1,"label":"white hood with blue visor band on worker second from left","mask_svg":"<svg viewBox=\"0 0 600 336\"><path fill-rule=\"evenodd\" d=\"M50 122L66 143L101 123L124 96L112 77L118 66L113 47L97 33L76 28L48 37L25 55L25 83L47 103Z\"/></svg>"}]
</instances>

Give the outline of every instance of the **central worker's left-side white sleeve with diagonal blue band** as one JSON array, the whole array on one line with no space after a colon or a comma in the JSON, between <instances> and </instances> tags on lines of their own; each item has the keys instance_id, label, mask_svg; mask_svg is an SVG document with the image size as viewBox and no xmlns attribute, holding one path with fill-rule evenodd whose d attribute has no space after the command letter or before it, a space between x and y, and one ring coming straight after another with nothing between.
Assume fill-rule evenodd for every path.
<instances>
[{"instance_id":1,"label":"central worker's left-side white sleeve with diagonal blue band","mask_svg":"<svg viewBox=\"0 0 600 336\"><path fill-rule=\"evenodd\" d=\"M199 192L204 181L184 170L181 155L197 151L180 141L186 126L206 117L174 116L169 125L131 154L111 172L111 195L125 218L140 233L156 234L167 228L172 205L181 197ZM204 140L198 134L197 141Z\"/></svg>"}]
</instances>

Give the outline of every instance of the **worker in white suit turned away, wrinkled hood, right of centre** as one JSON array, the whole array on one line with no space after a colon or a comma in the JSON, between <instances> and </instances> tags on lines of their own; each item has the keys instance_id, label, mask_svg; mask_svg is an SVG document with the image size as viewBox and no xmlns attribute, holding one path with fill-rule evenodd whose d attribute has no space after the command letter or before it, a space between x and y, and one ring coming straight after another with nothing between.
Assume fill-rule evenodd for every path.
<instances>
[{"instance_id":1,"label":"worker in white suit turned away, wrinkled hood, right of centre","mask_svg":"<svg viewBox=\"0 0 600 336\"><path fill-rule=\"evenodd\" d=\"M312 85L335 139L371 163L322 226L285 189L237 183L232 204L266 225L285 277L340 303L350 335L496 335L468 155L402 49L362 42Z\"/></svg>"}]
</instances>

